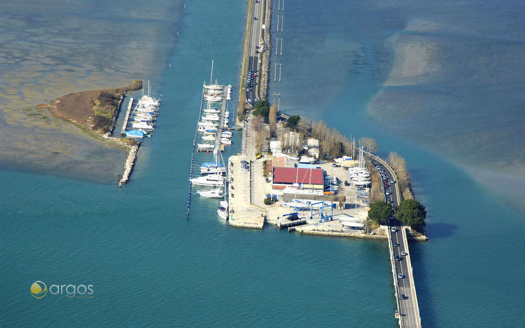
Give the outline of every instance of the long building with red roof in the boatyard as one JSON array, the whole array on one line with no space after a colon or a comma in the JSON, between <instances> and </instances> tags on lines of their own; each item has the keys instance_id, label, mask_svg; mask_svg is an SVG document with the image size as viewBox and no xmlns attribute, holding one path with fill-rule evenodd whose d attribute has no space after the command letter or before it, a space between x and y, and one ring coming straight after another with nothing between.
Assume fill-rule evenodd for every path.
<instances>
[{"instance_id":1,"label":"long building with red roof in the boatyard","mask_svg":"<svg viewBox=\"0 0 525 328\"><path fill-rule=\"evenodd\" d=\"M323 190L324 182L323 169L273 167L273 189L296 187L297 189Z\"/></svg>"}]
</instances>

